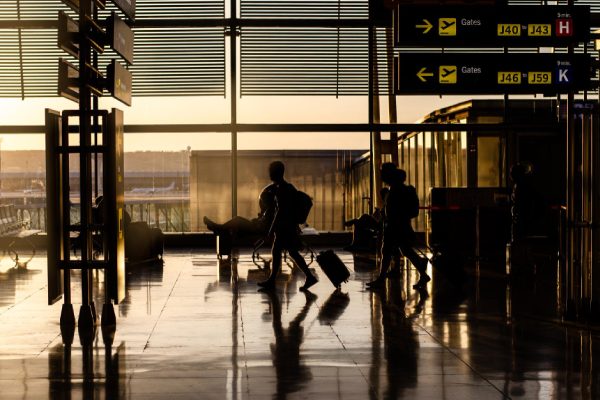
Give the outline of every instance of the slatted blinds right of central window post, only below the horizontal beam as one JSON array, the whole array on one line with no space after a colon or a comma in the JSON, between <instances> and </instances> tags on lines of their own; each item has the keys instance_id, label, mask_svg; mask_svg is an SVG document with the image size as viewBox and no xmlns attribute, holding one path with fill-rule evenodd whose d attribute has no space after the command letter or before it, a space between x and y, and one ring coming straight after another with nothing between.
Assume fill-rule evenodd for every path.
<instances>
[{"instance_id":1,"label":"slatted blinds right of central window post, only below the horizontal beam","mask_svg":"<svg viewBox=\"0 0 600 400\"><path fill-rule=\"evenodd\" d=\"M241 94L366 95L366 28L243 28ZM385 31L378 30L380 93L388 93Z\"/></svg>"}]
</instances>

